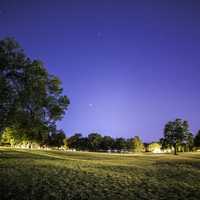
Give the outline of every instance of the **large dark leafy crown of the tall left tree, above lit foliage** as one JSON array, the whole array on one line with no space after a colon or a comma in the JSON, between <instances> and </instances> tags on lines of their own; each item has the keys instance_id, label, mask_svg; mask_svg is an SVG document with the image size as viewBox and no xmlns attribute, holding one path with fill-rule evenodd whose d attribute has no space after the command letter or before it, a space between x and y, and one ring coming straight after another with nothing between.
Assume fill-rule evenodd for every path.
<instances>
[{"instance_id":1,"label":"large dark leafy crown of the tall left tree, above lit foliage","mask_svg":"<svg viewBox=\"0 0 200 200\"><path fill-rule=\"evenodd\" d=\"M28 58L12 38L0 41L0 132L15 126L31 141L47 136L68 105L61 81L41 61Z\"/></svg>"}]
</instances>

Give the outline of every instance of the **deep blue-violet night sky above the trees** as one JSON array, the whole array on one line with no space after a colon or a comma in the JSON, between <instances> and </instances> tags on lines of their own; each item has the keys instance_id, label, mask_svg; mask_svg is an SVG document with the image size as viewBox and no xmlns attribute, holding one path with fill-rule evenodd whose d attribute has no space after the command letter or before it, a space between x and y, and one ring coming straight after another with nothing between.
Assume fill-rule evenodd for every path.
<instances>
[{"instance_id":1,"label":"deep blue-violet night sky above the trees","mask_svg":"<svg viewBox=\"0 0 200 200\"><path fill-rule=\"evenodd\" d=\"M5 36L62 80L68 136L157 140L177 117L200 129L198 0L0 0Z\"/></svg>"}]
</instances>

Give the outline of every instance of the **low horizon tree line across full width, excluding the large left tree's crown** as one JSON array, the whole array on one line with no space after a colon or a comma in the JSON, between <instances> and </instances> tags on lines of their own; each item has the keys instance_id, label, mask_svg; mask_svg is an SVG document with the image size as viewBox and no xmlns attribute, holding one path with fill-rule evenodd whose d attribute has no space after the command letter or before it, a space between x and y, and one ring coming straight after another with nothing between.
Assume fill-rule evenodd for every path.
<instances>
[{"instance_id":1,"label":"low horizon tree line across full width, excluding the large left tree's crown","mask_svg":"<svg viewBox=\"0 0 200 200\"><path fill-rule=\"evenodd\" d=\"M200 130L193 136L189 132L187 121L176 119L173 122L168 122L164 128L164 137L159 142L143 143L139 136L133 138L113 138L111 136L102 136L99 133L91 133L88 136L83 136L80 133L75 133L67 138L62 130L56 133L47 134L43 137L38 137L36 140L28 140L26 135L19 134L15 129L6 128L1 134L1 143L15 147L31 148L33 145L40 148L62 148L78 151L93 151L93 152L146 152L150 149L172 149L174 154L177 151L189 152L195 149L200 149Z\"/></svg>"}]
</instances>

